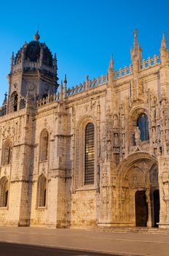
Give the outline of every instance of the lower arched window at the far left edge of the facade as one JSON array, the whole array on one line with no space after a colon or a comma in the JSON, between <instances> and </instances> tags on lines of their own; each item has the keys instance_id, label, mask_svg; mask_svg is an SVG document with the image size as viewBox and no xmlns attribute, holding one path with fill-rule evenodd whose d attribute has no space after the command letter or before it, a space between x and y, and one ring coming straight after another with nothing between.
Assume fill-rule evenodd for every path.
<instances>
[{"instance_id":1,"label":"lower arched window at the far left edge of the facade","mask_svg":"<svg viewBox=\"0 0 169 256\"><path fill-rule=\"evenodd\" d=\"M7 207L9 182L7 178L1 178L0 181L0 207Z\"/></svg>"}]
</instances>

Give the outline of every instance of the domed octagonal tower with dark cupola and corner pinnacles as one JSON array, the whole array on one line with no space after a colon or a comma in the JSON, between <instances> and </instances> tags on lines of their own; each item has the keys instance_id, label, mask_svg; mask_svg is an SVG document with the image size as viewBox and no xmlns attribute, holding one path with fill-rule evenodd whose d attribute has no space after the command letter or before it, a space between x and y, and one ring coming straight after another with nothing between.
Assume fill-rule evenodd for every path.
<instances>
[{"instance_id":1,"label":"domed octagonal tower with dark cupola and corner pinnacles","mask_svg":"<svg viewBox=\"0 0 169 256\"><path fill-rule=\"evenodd\" d=\"M47 45L39 42L39 31L34 40L23 45L16 56L12 53L7 112L23 108L23 99L30 94L36 99L55 94L58 89L57 59Z\"/></svg>"}]
</instances>

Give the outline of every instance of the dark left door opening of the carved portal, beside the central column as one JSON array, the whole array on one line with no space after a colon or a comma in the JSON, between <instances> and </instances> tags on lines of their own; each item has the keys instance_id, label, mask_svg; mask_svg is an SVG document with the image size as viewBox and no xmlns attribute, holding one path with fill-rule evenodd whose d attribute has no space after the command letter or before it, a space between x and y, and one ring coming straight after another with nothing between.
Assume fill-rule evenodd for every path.
<instances>
[{"instance_id":1,"label":"dark left door opening of the carved portal, beside the central column","mask_svg":"<svg viewBox=\"0 0 169 256\"><path fill-rule=\"evenodd\" d=\"M135 192L135 225L136 227L146 227L148 220L148 205L146 203L146 192Z\"/></svg>"}]
</instances>

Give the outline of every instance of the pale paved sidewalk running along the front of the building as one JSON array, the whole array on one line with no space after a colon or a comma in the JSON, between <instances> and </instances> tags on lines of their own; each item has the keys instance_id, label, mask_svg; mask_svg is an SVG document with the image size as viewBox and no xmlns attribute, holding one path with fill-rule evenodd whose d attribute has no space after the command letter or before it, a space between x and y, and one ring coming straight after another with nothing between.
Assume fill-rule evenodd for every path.
<instances>
[{"instance_id":1,"label":"pale paved sidewalk running along the front of the building","mask_svg":"<svg viewBox=\"0 0 169 256\"><path fill-rule=\"evenodd\" d=\"M0 227L0 241L119 255L169 255L169 235L44 227Z\"/></svg>"}]
</instances>

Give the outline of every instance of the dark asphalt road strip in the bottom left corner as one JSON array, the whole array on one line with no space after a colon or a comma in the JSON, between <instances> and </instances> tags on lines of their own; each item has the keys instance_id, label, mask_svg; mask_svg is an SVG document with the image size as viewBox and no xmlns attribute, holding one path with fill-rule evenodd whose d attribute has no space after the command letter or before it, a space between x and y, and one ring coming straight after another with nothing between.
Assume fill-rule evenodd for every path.
<instances>
[{"instance_id":1,"label":"dark asphalt road strip in the bottom left corner","mask_svg":"<svg viewBox=\"0 0 169 256\"><path fill-rule=\"evenodd\" d=\"M0 243L0 256L106 256L105 254L82 252L43 246ZM116 256L116 255L114 255ZM119 255L118 255L119 256Z\"/></svg>"}]
</instances>

